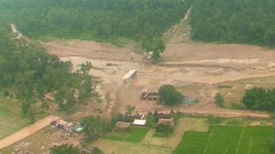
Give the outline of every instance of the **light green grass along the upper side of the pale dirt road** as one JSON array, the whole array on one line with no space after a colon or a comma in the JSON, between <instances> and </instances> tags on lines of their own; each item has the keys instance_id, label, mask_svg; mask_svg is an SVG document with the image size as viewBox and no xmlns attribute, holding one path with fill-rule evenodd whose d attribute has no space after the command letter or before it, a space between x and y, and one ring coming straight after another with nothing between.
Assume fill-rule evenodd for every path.
<instances>
[{"instance_id":1,"label":"light green grass along the upper side of the pale dirt road","mask_svg":"<svg viewBox=\"0 0 275 154\"><path fill-rule=\"evenodd\" d=\"M44 112L35 113L36 120L45 117ZM16 99L0 98L0 140L29 125L28 119L21 116L21 103Z\"/></svg>"}]
</instances>

